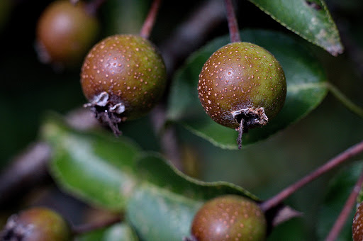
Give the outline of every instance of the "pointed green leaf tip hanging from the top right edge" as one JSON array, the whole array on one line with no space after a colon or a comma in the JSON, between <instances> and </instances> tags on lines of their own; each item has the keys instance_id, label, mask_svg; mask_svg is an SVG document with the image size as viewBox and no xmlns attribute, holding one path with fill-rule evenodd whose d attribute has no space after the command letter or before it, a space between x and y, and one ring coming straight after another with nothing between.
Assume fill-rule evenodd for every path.
<instances>
[{"instance_id":1,"label":"pointed green leaf tip hanging from the top right edge","mask_svg":"<svg viewBox=\"0 0 363 241\"><path fill-rule=\"evenodd\" d=\"M250 0L283 26L332 55L342 53L337 27L323 0Z\"/></svg>"}]
</instances>

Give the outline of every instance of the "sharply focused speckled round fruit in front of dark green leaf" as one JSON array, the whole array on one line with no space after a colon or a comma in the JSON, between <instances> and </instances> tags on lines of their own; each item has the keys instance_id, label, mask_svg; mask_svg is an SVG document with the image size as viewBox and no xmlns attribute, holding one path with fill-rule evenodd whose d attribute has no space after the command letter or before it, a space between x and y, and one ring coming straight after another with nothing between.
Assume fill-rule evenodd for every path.
<instances>
[{"instance_id":1,"label":"sharply focused speckled round fruit in front of dark green leaf","mask_svg":"<svg viewBox=\"0 0 363 241\"><path fill-rule=\"evenodd\" d=\"M279 113L286 98L284 71L263 47L235 42L221 47L199 74L199 100L220 125L242 133L266 125Z\"/></svg>"}]
</instances>

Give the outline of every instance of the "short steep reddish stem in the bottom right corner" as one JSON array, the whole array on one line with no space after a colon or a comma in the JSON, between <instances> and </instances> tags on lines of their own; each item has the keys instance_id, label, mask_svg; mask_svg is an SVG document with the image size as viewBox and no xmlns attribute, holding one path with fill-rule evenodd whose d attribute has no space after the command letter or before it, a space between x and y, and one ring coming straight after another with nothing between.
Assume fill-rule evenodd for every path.
<instances>
[{"instance_id":1,"label":"short steep reddish stem in the bottom right corner","mask_svg":"<svg viewBox=\"0 0 363 241\"><path fill-rule=\"evenodd\" d=\"M360 174L357 182L355 183L353 190L350 193L350 196L347 198L347 201L345 202L344 207L342 208L342 211L340 212L339 216L337 217L337 220L335 220L333 228L331 228L325 241L334 241L337 239L337 236L339 235L340 231L342 230L343 226L345 225L345 221L347 220L348 216L350 215L350 212L352 211L354 204L357 202L357 196L359 195L359 191L362 189L362 184L363 184L363 171Z\"/></svg>"}]
</instances>

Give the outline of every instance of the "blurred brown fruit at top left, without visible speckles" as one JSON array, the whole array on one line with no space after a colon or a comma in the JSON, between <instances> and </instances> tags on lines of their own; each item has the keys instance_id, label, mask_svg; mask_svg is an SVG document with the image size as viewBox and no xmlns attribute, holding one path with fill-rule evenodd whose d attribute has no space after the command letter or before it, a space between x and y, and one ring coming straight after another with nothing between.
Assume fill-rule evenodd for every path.
<instances>
[{"instance_id":1,"label":"blurred brown fruit at top left, without visible speckles","mask_svg":"<svg viewBox=\"0 0 363 241\"><path fill-rule=\"evenodd\" d=\"M99 22L86 12L82 2L74 6L68 0L54 1L38 20L38 56L45 63L79 64L98 32Z\"/></svg>"}]
</instances>

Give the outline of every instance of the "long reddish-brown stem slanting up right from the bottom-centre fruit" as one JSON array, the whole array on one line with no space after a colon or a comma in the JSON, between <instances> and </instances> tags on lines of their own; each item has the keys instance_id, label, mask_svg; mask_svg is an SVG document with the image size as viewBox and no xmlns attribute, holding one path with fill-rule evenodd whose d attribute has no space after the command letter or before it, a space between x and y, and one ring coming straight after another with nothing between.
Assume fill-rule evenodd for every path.
<instances>
[{"instance_id":1,"label":"long reddish-brown stem slanting up right from the bottom-centre fruit","mask_svg":"<svg viewBox=\"0 0 363 241\"><path fill-rule=\"evenodd\" d=\"M260 207L262 208L263 211L268 211L270 208L273 208L274 206L277 206L279 203L284 201L284 199L289 197L291 194L294 194L295 191L301 189L301 187L310 183L311 181L318 178L322 174L325 174L325 172L328 172L334 167L337 167L339 164L342 164L347 159L350 159L350 157L354 157L355 155L358 155L361 152L363 152L363 141L348 148L344 152L340 153L340 155L337 155L336 157L330 159L322 166L318 167L318 169L315 169L315 171L304 176L302 179L296 181L294 184L291 184L290 186L286 187L286 189L282 190L272 198L267 199L267 201L261 203Z\"/></svg>"}]
</instances>

